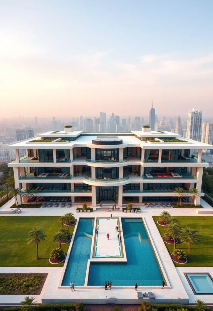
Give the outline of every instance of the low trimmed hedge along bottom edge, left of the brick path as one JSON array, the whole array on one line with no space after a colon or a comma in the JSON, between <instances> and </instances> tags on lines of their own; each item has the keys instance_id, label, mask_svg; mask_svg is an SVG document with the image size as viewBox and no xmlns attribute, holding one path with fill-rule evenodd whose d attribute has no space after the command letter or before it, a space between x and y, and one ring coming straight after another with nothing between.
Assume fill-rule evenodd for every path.
<instances>
[{"instance_id":1,"label":"low trimmed hedge along bottom edge, left of the brick path","mask_svg":"<svg viewBox=\"0 0 213 311\"><path fill-rule=\"evenodd\" d=\"M40 304L35 306L35 310L46 311L46 310L69 310L69 311L86 311L86 307L82 304L82 302L78 302L76 304ZM6 311L21 311L21 306L5 308Z\"/></svg>"}]
</instances>

